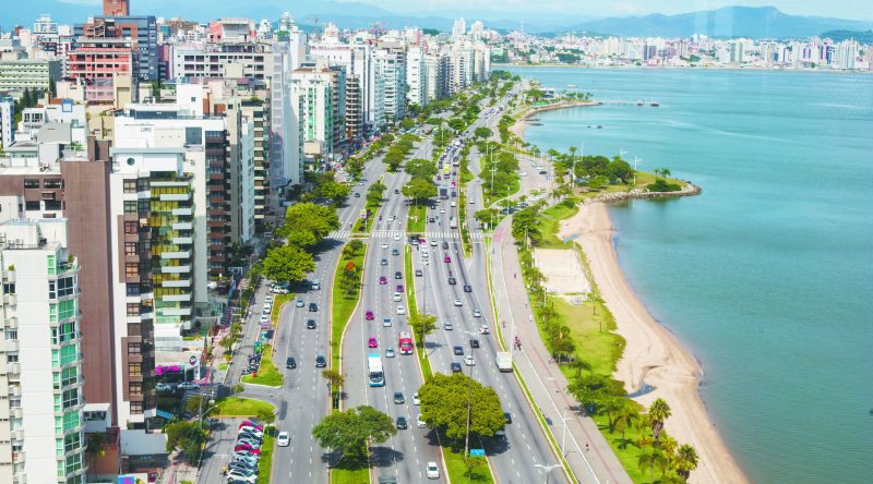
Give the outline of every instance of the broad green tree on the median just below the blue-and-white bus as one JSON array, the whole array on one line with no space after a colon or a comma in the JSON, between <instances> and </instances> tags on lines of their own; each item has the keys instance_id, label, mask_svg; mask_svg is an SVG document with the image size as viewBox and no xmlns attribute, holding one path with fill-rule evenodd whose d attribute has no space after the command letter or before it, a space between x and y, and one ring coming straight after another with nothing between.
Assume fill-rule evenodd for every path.
<instances>
[{"instance_id":1,"label":"broad green tree on the median just below the blue-and-white bus","mask_svg":"<svg viewBox=\"0 0 873 484\"><path fill-rule=\"evenodd\" d=\"M368 406L330 413L312 427L320 446L338 450L343 457L361 457L368 441L382 444L396 434L391 416Z\"/></svg>"}]
</instances>

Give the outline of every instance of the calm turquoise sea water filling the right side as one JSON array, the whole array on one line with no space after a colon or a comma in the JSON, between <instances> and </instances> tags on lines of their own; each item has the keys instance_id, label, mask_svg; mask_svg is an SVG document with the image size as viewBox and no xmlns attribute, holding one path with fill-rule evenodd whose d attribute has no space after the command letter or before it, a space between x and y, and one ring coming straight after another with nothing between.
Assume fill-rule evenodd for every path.
<instances>
[{"instance_id":1,"label":"calm turquoise sea water filling the right side","mask_svg":"<svg viewBox=\"0 0 873 484\"><path fill-rule=\"evenodd\" d=\"M624 150L703 187L609 213L750 479L873 482L873 75L510 70L632 101L538 114L525 138L543 153Z\"/></svg>"}]
</instances>

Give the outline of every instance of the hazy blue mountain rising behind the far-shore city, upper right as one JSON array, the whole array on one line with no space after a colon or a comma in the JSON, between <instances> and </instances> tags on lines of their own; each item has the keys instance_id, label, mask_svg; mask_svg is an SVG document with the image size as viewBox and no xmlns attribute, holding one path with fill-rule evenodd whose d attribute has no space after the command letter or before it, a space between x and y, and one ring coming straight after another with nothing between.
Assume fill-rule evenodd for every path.
<instances>
[{"instance_id":1,"label":"hazy blue mountain rising behind the far-shore city, upper right","mask_svg":"<svg viewBox=\"0 0 873 484\"><path fill-rule=\"evenodd\" d=\"M602 19L576 24L565 31L603 32L623 37L691 37L705 34L722 38L800 38L827 31L868 28L873 28L873 22L789 15L774 7L725 7L678 15L655 13Z\"/></svg>"}]
</instances>

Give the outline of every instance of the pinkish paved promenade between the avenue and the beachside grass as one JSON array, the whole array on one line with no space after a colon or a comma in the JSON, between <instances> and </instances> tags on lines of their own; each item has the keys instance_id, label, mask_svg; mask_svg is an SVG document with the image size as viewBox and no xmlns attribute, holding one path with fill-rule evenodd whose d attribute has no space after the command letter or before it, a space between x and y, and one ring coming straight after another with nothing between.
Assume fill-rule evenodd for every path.
<instances>
[{"instance_id":1,"label":"pinkish paved promenade between the avenue and the beachside grass","mask_svg":"<svg viewBox=\"0 0 873 484\"><path fill-rule=\"evenodd\" d=\"M513 347L511 342L514 337L521 340L522 349L512 352L516 368L563 449L576 479L583 483L631 484L631 477L597 424L575 412L578 403L566 392L567 380L563 373L548 363L550 355L533 320L524 281L521 277L513 277L521 273L521 265L510 232L511 223L512 217L506 217L498 226L491 255L494 297L500 318L506 324L502 332L506 348ZM565 426L562 418L566 419ZM586 446L590 448L585 450Z\"/></svg>"}]
</instances>

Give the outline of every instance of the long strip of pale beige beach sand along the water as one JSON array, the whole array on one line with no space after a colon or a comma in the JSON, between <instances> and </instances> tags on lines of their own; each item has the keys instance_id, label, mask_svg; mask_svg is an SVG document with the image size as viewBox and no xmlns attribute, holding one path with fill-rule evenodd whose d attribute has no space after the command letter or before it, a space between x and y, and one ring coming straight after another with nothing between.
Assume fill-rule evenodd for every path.
<instances>
[{"instance_id":1,"label":"long strip of pale beige beach sand along the water","mask_svg":"<svg viewBox=\"0 0 873 484\"><path fill-rule=\"evenodd\" d=\"M624 355L613 375L625 382L629 392L642 382L657 389L636 398L648 407L661 398L670 406L667 432L680 445L697 449L699 463L692 472L693 483L749 482L730 455L697 394L699 367L675 337L656 322L636 297L619 265L612 245L612 222L606 205L581 205L578 214L561 222L559 237L577 235L600 295L615 316L618 331L627 341Z\"/></svg>"}]
</instances>

